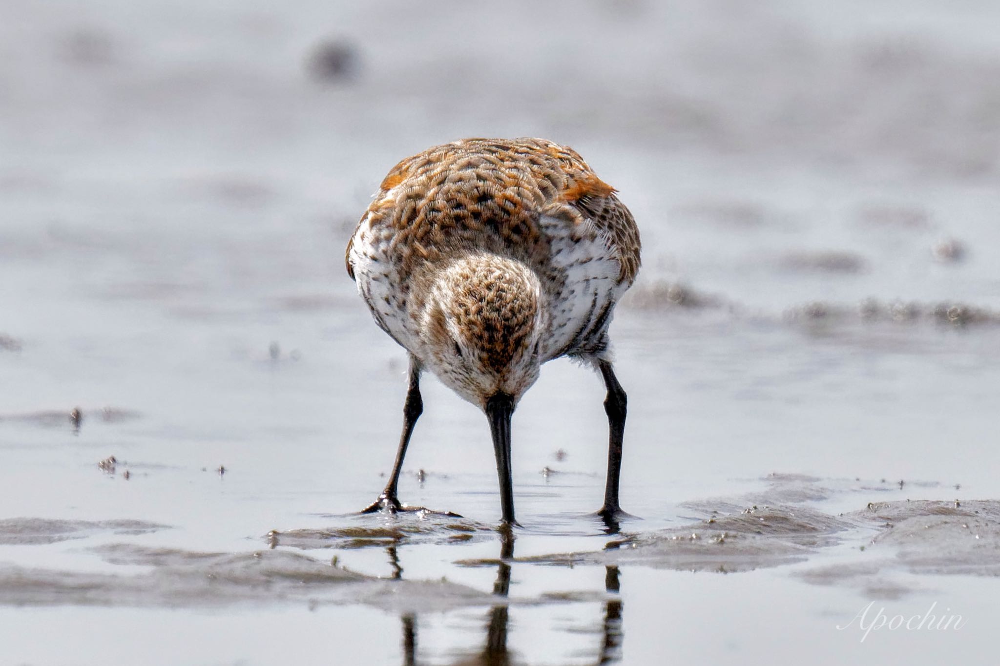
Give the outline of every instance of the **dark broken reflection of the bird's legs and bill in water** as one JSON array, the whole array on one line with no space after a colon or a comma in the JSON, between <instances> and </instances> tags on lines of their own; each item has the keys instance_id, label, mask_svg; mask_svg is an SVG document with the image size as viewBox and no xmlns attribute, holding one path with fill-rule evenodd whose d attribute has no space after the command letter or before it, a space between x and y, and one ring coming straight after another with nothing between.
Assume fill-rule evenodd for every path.
<instances>
[{"instance_id":1,"label":"dark broken reflection of the bird's legs and bill in water","mask_svg":"<svg viewBox=\"0 0 1000 666\"><path fill-rule=\"evenodd\" d=\"M493 594L506 599L510 592L510 562L514 558L514 534L509 526L499 529L500 558L497 562L497 578L493 583ZM393 568L393 579L402 576L403 569L399 563L396 546L386 549L389 563ZM607 565L604 574L604 589L609 594L604 602L603 640L595 664L610 664L621 659L622 647L622 601L618 596L621 583L617 566ZM512 653L507 649L507 626L509 622L509 606L499 603L489 612L486 624L486 644L482 652L471 657L463 657L454 662L456 666L508 666L513 664ZM417 664L417 616L407 613L402 616L403 623L403 664Z\"/></svg>"}]
</instances>

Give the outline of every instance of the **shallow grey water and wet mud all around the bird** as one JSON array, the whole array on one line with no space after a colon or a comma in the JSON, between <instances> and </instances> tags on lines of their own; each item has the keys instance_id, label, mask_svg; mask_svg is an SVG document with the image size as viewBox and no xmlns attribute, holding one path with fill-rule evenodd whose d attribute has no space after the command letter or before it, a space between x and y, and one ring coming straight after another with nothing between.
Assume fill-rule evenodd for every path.
<instances>
[{"instance_id":1,"label":"shallow grey water and wet mud all around the bird","mask_svg":"<svg viewBox=\"0 0 1000 666\"><path fill-rule=\"evenodd\" d=\"M426 7L5 10L0 661L990 663L996 8L525 5L501 62ZM464 518L353 514L405 358L343 247L468 135L573 145L641 225L620 533L566 361L515 416L513 542L430 379L400 493ZM837 629L870 602L966 623Z\"/></svg>"}]
</instances>

